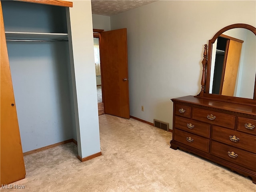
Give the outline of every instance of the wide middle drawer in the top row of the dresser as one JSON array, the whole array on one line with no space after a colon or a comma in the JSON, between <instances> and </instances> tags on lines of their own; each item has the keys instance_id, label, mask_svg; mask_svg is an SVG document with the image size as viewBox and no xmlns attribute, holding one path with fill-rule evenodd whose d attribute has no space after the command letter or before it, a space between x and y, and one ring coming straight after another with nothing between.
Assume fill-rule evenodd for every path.
<instances>
[{"instance_id":1,"label":"wide middle drawer in the top row of the dresser","mask_svg":"<svg viewBox=\"0 0 256 192\"><path fill-rule=\"evenodd\" d=\"M234 115L228 115L199 108L193 108L192 118L195 120L223 126L230 129L235 128L236 122L236 116Z\"/></svg>"}]
</instances>

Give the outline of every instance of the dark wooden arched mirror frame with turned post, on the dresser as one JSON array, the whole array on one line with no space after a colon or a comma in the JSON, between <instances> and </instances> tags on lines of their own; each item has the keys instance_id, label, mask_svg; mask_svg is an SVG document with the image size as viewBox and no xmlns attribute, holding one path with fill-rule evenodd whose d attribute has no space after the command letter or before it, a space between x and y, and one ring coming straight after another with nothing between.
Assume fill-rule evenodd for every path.
<instances>
[{"instance_id":1,"label":"dark wooden arched mirror frame with turned post, on the dresser","mask_svg":"<svg viewBox=\"0 0 256 192\"><path fill-rule=\"evenodd\" d=\"M212 62L212 45L216 41L216 39L225 31L234 29L234 28L244 28L248 29L251 32L253 32L256 36L256 28L254 26L248 25L248 24L232 24L229 26L226 26L219 30L212 39L209 40L208 44L208 56L207 56L207 44L204 45L204 59L202 61L203 65L203 73L202 73L202 89L201 92L197 95L199 97L204 98L211 98L216 100L224 100L229 102L235 102L235 103L243 103L243 104L253 104L256 105L256 76L255 76L255 83L254 83L254 96L252 99L249 98L240 98L240 97L232 97L232 96L224 96L219 94L209 94L210 89L210 68L211 68L211 62Z\"/></svg>"}]
</instances>

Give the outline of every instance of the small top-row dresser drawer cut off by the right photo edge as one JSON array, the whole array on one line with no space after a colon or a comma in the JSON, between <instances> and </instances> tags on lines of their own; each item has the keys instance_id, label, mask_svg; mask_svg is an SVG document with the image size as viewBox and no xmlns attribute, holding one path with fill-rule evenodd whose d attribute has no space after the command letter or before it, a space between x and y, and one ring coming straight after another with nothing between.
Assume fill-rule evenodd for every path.
<instances>
[{"instance_id":1,"label":"small top-row dresser drawer cut off by the right photo edge","mask_svg":"<svg viewBox=\"0 0 256 192\"><path fill-rule=\"evenodd\" d=\"M237 130L256 135L256 120L238 117Z\"/></svg>"}]
</instances>

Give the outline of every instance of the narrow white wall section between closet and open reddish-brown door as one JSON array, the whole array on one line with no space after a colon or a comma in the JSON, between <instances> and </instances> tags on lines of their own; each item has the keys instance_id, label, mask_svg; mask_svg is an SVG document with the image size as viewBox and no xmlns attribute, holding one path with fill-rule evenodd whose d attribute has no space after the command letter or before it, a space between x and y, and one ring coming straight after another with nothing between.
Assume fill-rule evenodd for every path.
<instances>
[{"instance_id":1,"label":"narrow white wall section between closet and open reddish-brown door","mask_svg":"<svg viewBox=\"0 0 256 192\"><path fill-rule=\"evenodd\" d=\"M69 10L78 155L84 158L100 152L91 2L74 0Z\"/></svg>"}]
</instances>

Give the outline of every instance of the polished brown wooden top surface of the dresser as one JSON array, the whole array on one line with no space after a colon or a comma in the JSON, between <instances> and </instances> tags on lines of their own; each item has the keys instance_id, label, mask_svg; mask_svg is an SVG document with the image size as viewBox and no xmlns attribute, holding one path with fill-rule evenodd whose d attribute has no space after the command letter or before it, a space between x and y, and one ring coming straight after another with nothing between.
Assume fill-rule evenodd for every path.
<instances>
[{"instance_id":1,"label":"polished brown wooden top surface of the dresser","mask_svg":"<svg viewBox=\"0 0 256 192\"><path fill-rule=\"evenodd\" d=\"M198 98L192 95L173 98L172 102L186 102L190 104L197 104L200 106L212 107L212 108L228 110L232 112L246 113L246 114L256 116L256 106L224 102L224 101L212 100L208 98Z\"/></svg>"}]
</instances>

